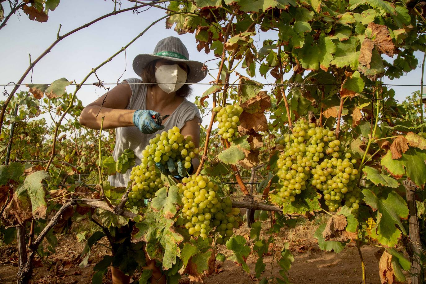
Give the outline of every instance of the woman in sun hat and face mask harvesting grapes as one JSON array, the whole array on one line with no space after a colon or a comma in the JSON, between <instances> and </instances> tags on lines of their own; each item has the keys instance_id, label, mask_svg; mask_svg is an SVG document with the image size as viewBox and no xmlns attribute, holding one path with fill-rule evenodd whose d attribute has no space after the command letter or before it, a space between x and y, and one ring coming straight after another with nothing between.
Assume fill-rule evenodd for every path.
<instances>
[{"instance_id":1,"label":"woman in sun hat and face mask harvesting grapes","mask_svg":"<svg viewBox=\"0 0 426 284\"><path fill-rule=\"evenodd\" d=\"M167 37L155 46L153 54L140 54L133 60L133 70L141 79L129 78L115 86L107 94L87 105L80 116L80 123L91 129L116 129L115 160L125 149L135 152L136 164L141 163L141 152L149 140L157 133L178 126L185 137L190 135L196 147L199 146L201 116L197 107L187 101L190 86L204 79L207 70L204 64L189 60L189 54L177 37ZM137 84L137 83L149 84ZM135 84L136 83L136 84ZM170 115L162 123L157 123L153 115ZM163 130L164 129L164 130ZM189 174L199 165L198 158L192 160ZM164 167L157 164L161 171ZM170 169L169 169L170 170ZM109 177L112 186L127 186L129 169L123 175ZM170 170L178 178L186 175L184 167ZM148 269L153 269L153 283L165 283L165 277L155 267L155 261L147 261ZM117 268L112 268L113 283L128 283Z\"/></svg>"}]
</instances>

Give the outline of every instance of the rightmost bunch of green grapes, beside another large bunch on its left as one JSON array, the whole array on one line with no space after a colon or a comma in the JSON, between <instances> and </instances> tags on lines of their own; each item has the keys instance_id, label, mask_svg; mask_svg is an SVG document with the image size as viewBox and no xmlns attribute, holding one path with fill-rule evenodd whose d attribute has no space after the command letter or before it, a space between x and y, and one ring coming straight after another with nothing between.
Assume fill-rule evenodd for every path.
<instances>
[{"instance_id":1,"label":"rightmost bunch of green grapes, beside another large bunch on its left","mask_svg":"<svg viewBox=\"0 0 426 284\"><path fill-rule=\"evenodd\" d=\"M356 160L351 158L350 153L345 154L345 159L324 159L311 170L311 184L320 189L324 194L325 205L328 210L334 212L342 205L353 208L356 213L360 202L360 189L357 181L360 178L358 170L354 168Z\"/></svg>"}]
</instances>

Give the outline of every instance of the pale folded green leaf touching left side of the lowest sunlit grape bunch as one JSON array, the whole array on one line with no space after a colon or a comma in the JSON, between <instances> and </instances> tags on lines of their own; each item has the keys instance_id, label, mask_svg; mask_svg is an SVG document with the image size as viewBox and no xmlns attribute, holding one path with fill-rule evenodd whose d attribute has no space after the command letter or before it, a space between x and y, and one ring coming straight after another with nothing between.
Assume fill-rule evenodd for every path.
<instances>
[{"instance_id":1,"label":"pale folded green leaf touching left side of the lowest sunlit grape bunch","mask_svg":"<svg viewBox=\"0 0 426 284\"><path fill-rule=\"evenodd\" d=\"M183 205L179 197L179 188L176 185L170 186L168 191L166 186L158 189L151 201L153 208L157 210L163 209L163 215L167 219L171 219L176 215L177 209L175 204Z\"/></svg>"}]
</instances>

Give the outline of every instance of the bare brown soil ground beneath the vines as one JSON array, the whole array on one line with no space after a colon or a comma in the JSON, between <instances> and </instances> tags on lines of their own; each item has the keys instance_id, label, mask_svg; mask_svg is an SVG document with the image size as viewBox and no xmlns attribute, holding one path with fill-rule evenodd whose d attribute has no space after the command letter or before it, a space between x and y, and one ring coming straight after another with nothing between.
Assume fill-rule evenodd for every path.
<instances>
[{"instance_id":1,"label":"bare brown soil ground beneath the vines","mask_svg":"<svg viewBox=\"0 0 426 284\"><path fill-rule=\"evenodd\" d=\"M290 243L290 250L294 255L294 263L288 273L289 280L292 283L313 283L313 284L359 284L361 283L361 264L355 244L348 244L345 250L340 253L323 252L313 237L318 225L313 222L304 221L296 228L282 229L282 232L276 235L275 255L272 253L264 257L266 264L263 276L270 277L279 275L279 266L276 263L279 251L284 242ZM239 235L249 239L250 229L242 228L236 232ZM267 238L268 236L265 236ZM101 243L107 245L106 239ZM109 253L106 247L95 245L92 254L89 257L89 264L84 267L78 267L81 261L80 254L83 250L85 241L78 242L76 232L67 235L58 235L58 246L55 253L45 259L37 256L35 268L32 277L32 283L35 284L74 284L90 283L93 274L94 265L101 258ZM248 240L248 244L251 241ZM378 260L374 252L378 250L374 246L363 246L364 261L366 261L367 283L380 284L378 275ZM222 246L219 251L225 255L230 252ZM250 274L245 273L242 267L234 264L232 261L224 263L217 262L216 272L204 278L206 284L246 284L258 283L253 277L256 257L250 255L247 259ZM0 283L16 283L16 273L18 268L17 249L14 245L0 247ZM111 275L104 278L104 283L111 283ZM132 281L138 279L138 273L134 275ZM190 283L187 278L181 280L182 283Z\"/></svg>"}]
</instances>

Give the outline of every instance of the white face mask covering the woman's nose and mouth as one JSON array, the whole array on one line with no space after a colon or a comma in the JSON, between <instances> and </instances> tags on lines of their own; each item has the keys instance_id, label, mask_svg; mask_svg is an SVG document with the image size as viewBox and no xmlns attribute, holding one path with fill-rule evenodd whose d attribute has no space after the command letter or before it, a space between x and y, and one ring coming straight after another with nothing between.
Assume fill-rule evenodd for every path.
<instances>
[{"instance_id":1,"label":"white face mask covering the woman's nose and mouth","mask_svg":"<svg viewBox=\"0 0 426 284\"><path fill-rule=\"evenodd\" d=\"M164 92L170 94L183 86L187 79L187 72L179 65L161 65L155 67L155 80Z\"/></svg>"}]
</instances>

